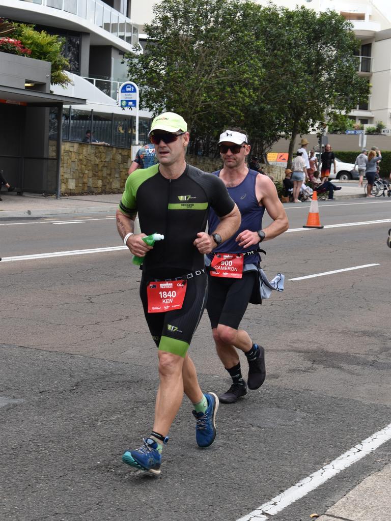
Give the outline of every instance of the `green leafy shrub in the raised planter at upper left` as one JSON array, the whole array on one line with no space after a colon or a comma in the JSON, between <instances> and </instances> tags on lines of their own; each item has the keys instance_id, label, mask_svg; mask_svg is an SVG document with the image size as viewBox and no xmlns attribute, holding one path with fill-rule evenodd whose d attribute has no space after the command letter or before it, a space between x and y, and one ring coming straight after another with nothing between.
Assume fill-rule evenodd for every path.
<instances>
[{"instance_id":1,"label":"green leafy shrub in the raised planter at upper left","mask_svg":"<svg viewBox=\"0 0 391 521\"><path fill-rule=\"evenodd\" d=\"M21 41L25 47L31 49L30 58L50 61L51 83L66 86L72 83L64 70L69 69L69 61L63 56L64 40L56 34L48 34L45 31L36 31L34 26L25 23L13 22L15 30L13 38Z\"/></svg>"}]
</instances>

